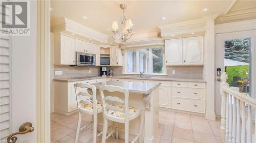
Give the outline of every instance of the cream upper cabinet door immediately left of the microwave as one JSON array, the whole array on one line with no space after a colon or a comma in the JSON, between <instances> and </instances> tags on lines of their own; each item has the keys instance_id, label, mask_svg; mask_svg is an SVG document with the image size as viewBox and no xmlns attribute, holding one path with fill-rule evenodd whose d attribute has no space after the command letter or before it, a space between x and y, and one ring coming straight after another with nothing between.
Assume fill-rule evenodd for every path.
<instances>
[{"instance_id":1,"label":"cream upper cabinet door immediately left of the microwave","mask_svg":"<svg viewBox=\"0 0 256 143\"><path fill-rule=\"evenodd\" d=\"M60 54L60 64L61 65L75 65L76 55L76 41L74 38L61 35L61 54Z\"/></svg>"}]
</instances>

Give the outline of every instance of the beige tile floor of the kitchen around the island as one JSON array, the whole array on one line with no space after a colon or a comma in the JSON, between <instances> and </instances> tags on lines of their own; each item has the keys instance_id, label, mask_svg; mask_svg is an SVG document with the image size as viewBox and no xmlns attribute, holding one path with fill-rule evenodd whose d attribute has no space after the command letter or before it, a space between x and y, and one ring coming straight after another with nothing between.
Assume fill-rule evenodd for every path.
<instances>
[{"instance_id":1,"label":"beige tile floor of the kitchen around the island","mask_svg":"<svg viewBox=\"0 0 256 143\"><path fill-rule=\"evenodd\" d=\"M92 120L91 115L82 115L82 125ZM211 143L220 141L220 119L216 121L205 120L204 117L178 112L159 111L159 129L155 143ZM63 116L58 113L51 114L51 142L74 142L77 126L77 113ZM93 130L80 131L79 142L92 142ZM97 138L101 142L101 136ZM110 137L106 142L122 143Z\"/></svg>"}]
</instances>

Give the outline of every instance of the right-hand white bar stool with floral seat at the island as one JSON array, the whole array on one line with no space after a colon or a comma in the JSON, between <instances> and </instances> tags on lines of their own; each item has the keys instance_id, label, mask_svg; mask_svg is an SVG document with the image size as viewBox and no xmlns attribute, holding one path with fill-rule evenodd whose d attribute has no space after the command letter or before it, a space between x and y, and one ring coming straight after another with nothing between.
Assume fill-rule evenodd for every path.
<instances>
[{"instance_id":1,"label":"right-hand white bar stool with floral seat at the island","mask_svg":"<svg viewBox=\"0 0 256 143\"><path fill-rule=\"evenodd\" d=\"M124 94L124 101L118 97L106 96L104 95L104 91L108 92L119 92ZM115 87L113 85L104 85L100 88L100 95L103 107L103 134L101 143L105 143L105 140L108 139L114 131L106 135L108 128L108 120L124 123L124 130L118 129L116 130L116 139L118 139L118 130L125 132L125 143L129 142L129 121L136 119L140 116L140 129L138 133L131 133L135 135L135 138L132 140L134 143L138 138L139 142L142 143L142 128L144 124L144 111L141 109L137 109L136 107L129 106L129 91L127 89L123 89L121 87Z\"/></svg>"}]
</instances>

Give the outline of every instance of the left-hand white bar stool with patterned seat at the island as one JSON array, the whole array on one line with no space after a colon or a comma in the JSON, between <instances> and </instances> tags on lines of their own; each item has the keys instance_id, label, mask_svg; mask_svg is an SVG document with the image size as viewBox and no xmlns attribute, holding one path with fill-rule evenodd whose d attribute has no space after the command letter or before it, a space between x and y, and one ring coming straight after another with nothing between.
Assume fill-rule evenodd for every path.
<instances>
[{"instance_id":1,"label":"left-hand white bar stool with patterned seat at the island","mask_svg":"<svg viewBox=\"0 0 256 143\"><path fill-rule=\"evenodd\" d=\"M82 92L87 89L87 92ZM75 143L78 141L79 131L87 128L93 122L93 143L96 143L96 137L103 133L97 134L97 115L102 112L102 105L100 101L96 99L96 87L88 83L76 83L75 84L76 101L78 107L78 123L76 131ZM93 115L93 121L80 129L81 125L81 113L87 113Z\"/></svg>"}]
</instances>

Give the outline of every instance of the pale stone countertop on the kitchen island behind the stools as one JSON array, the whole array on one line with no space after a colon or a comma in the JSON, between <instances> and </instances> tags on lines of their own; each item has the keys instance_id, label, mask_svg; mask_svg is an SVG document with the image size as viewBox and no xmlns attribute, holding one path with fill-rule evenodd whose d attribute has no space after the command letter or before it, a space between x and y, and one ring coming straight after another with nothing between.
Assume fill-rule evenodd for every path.
<instances>
[{"instance_id":1,"label":"pale stone countertop on the kitchen island behind the stools","mask_svg":"<svg viewBox=\"0 0 256 143\"><path fill-rule=\"evenodd\" d=\"M130 93L150 94L154 89L160 86L159 83L140 82L140 81L103 81L93 83L96 89L100 89L104 85L114 85L127 89Z\"/></svg>"}]
</instances>

